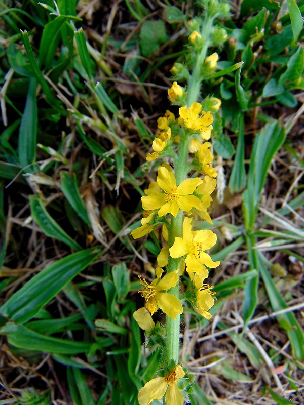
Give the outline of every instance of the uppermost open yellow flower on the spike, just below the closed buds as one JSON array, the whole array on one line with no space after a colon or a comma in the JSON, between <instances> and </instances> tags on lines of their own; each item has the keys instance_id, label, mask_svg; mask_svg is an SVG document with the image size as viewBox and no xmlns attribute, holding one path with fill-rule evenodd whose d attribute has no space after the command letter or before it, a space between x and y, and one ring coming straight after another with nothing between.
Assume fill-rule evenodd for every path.
<instances>
[{"instance_id":1,"label":"uppermost open yellow flower on the spike, just below the closed buds","mask_svg":"<svg viewBox=\"0 0 304 405\"><path fill-rule=\"evenodd\" d=\"M210 124L213 123L213 117L210 111L201 112L202 106L200 103L193 103L189 108L187 106L180 107L179 115L184 120L187 128L195 131L208 131L212 129Z\"/></svg>"}]
</instances>

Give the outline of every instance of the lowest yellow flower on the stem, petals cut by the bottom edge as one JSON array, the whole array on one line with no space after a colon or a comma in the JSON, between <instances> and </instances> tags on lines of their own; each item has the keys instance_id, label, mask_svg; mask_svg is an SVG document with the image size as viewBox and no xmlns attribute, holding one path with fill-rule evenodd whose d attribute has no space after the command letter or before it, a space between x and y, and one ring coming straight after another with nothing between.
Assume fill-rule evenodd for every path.
<instances>
[{"instance_id":1,"label":"lowest yellow flower on the stem, petals cut by the bottom edge","mask_svg":"<svg viewBox=\"0 0 304 405\"><path fill-rule=\"evenodd\" d=\"M157 377L147 382L138 393L139 405L150 405L154 399L161 399L165 394L166 405L183 405L184 398L177 382L184 375L182 367L177 365L166 377Z\"/></svg>"}]
</instances>

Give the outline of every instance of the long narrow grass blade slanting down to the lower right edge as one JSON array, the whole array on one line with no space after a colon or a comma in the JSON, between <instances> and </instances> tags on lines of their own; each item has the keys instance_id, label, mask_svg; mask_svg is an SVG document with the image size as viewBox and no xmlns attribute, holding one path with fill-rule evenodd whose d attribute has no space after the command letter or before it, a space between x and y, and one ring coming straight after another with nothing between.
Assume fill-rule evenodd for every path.
<instances>
[{"instance_id":1,"label":"long narrow grass blade slanting down to the lower right edge","mask_svg":"<svg viewBox=\"0 0 304 405\"><path fill-rule=\"evenodd\" d=\"M287 308L286 302L284 301L280 292L277 290L273 279L264 264L262 254L260 252L257 252L257 257L259 270L264 282L265 290L267 292L273 310L279 311L280 309ZM287 312L285 314L278 315L277 320L287 332L293 356L297 360L302 361L304 359L304 334L296 317L292 312Z\"/></svg>"}]
</instances>

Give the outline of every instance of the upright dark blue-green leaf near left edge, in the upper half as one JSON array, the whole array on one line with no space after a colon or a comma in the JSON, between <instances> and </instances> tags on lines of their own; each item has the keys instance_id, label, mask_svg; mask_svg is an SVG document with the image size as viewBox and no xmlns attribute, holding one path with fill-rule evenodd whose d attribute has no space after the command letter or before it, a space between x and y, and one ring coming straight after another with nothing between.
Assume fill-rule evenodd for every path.
<instances>
[{"instance_id":1,"label":"upright dark blue-green leaf near left edge, in the upper half","mask_svg":"<svg viewBox=\"0 0 304 405\"><path fill-rule=\"evenodd\" d=\"M37 80L32 77L29 79L28 93L18 138L18 156L20 165L23 168L34 163L36 159L38 121L36 90ZM26 170L32 172L32 168Z\"/></svg>"}]
</instances>

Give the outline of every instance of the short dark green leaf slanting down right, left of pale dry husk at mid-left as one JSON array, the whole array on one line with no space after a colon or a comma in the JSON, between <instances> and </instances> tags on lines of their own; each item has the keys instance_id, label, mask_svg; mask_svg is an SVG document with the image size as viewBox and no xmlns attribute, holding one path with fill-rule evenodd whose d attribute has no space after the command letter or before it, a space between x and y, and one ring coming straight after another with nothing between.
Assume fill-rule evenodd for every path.
<instances>
[{"instance_id":1,"label":"short dark green leaf slanting down right, left of pale dry husk at mid-left","mask_svg":"<svg viewBox=\"0 0 304 405\"><path fill-rule=\"evenodd\" d=\"M87 225L91 226L86 206L79 192L75 173L72 173L70 175L67 172L61 172L60 179L61 179L61 190L65 195L66 199L73 207L73 209L77 212L77 214L83 219L83 221Z\"/></svg>"}]
</instances>

